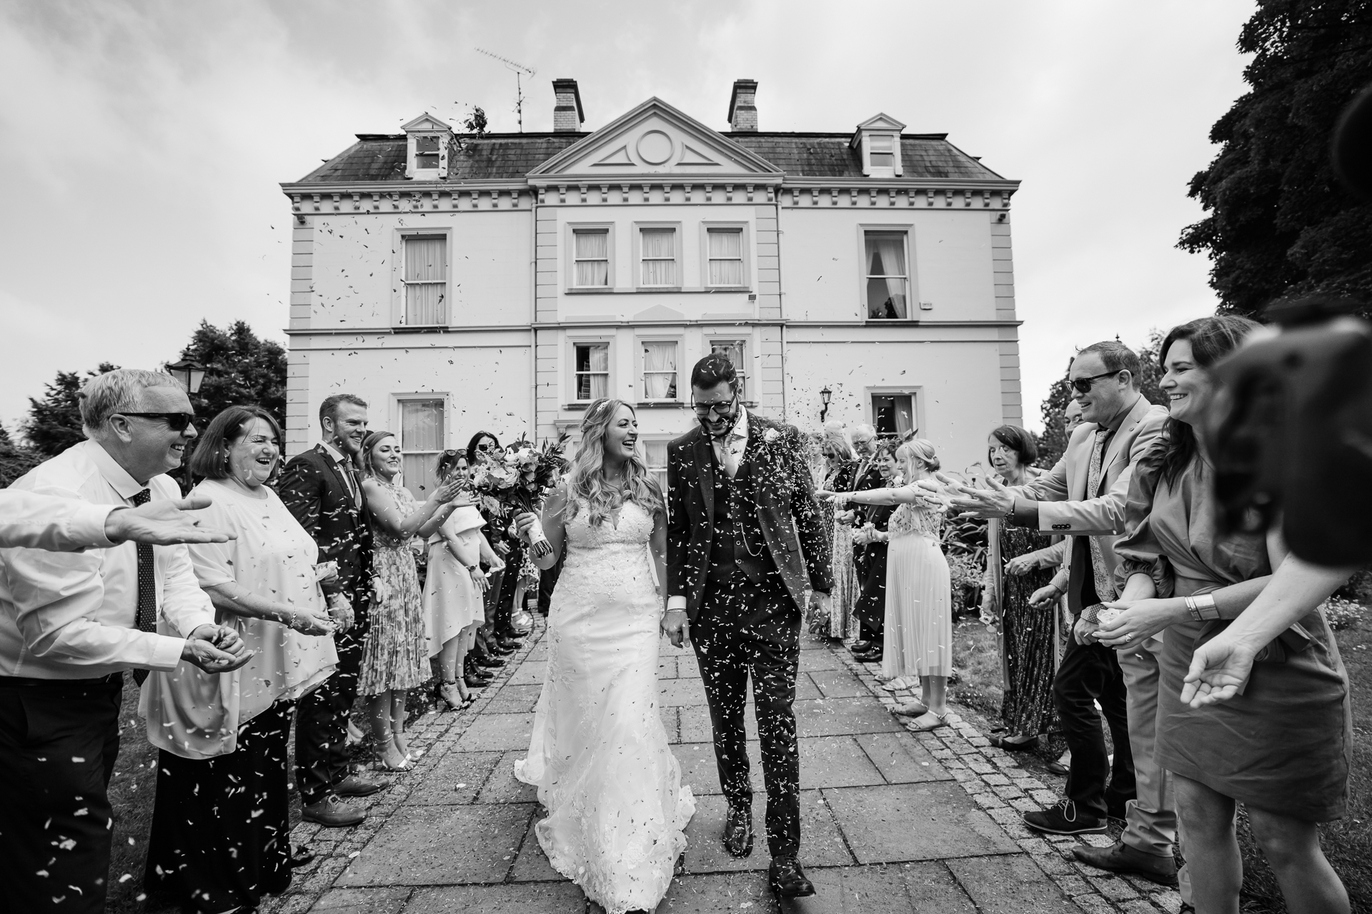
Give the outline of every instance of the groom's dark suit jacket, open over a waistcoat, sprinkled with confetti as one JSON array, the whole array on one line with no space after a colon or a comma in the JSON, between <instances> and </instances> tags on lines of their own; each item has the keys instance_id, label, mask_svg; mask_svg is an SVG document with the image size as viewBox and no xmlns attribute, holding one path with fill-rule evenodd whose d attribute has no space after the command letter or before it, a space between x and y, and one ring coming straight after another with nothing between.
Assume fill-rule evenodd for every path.
<instances>
[{"instance_id":1,"label":"groom's dark suit jacket, open over a waistcoat, sprinkled with confetti","mask_svg":"<svg viewBox=\"0 0 1372 914\"><path fill-rule=\"evenodd\" d=\"M771 434L775 433L775 434ZM767 439L771 437L771 441ZM744 463L750 463L757 523L796 607L805 592L829 593L829 525L792 425L748 414ZM667 593L686 597L686 615L700 615L715 536L715 469L709 437L696 426L667 445Z\"/></svg>"}]
</instances>

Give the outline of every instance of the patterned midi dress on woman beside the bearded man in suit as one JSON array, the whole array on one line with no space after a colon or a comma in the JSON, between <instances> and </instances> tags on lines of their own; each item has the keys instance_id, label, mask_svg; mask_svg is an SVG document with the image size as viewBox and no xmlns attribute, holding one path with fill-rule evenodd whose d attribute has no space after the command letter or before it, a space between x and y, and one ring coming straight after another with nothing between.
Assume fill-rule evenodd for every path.
<instances>
[{"instance_id":1,"label":"patterned midi dress on woman beside the bearded man in suit","mask_svg":"<svg viewBox=\"0 0 1372 914\"><path fill-rule=\"evenodd\" d=\"M410 491L376 481L401 515L418 507ZM372 628L362 651L358 693L380 695L387 689L413 689L429 678L424 639L424 603L409 537L395 537L372 528Z\"/></svg>"}]
</instances>

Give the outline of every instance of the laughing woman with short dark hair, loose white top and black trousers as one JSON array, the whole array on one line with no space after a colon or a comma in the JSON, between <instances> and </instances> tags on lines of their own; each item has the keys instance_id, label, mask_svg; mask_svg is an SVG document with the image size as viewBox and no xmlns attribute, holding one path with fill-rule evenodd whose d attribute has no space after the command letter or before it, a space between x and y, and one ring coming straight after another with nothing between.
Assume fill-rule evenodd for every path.
<instances>
[{"instance_id":1,"label":"laughing woman with short dark hair, loose white top and black trousers","mask_svg":"<svg viewBox=\"0 0 1372 914\"><path fill-rule=\"evenodd\" d=\"M333 673L318 547L266 485L281 458L270 412L233 406L200 436L192 495L228 543L189 547L224 623L255 652L233 673L182 662L144 682L139 713L158 756L145 884L188 911L251 910L291 884L287 737L296 699Z\"/></svg>"}]
</instances>

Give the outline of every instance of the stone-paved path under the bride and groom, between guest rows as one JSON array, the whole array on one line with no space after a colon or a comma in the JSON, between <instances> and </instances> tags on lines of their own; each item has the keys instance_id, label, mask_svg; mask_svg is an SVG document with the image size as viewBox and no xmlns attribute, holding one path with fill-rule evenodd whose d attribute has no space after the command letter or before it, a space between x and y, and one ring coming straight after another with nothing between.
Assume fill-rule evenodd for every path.
<instances>
[{"instance_id":1,"label":"stone-paved path under the bride and groom, between guest rows","mask_svg":"<svg viewBox=\"0 0 1372 914\"><path fill-rule=\"evenodd\" d=\"M532 833L536 798L513 776L546 666L541 633L471 708L412 724L412 745L427 752L369 798L365 824L295 829L294 843L318 856L263 914L600 913L549 866ZM877 688L874 669L819 641L803 647L801 863L819 891L807 910L1177 911L1173 891L1073 862L1076 839L1029 833L1021 811L1056 796L969 724L951 715L949 728L908 733L888 713L895 699ZM766 885L766 839L759 835L759 848L742 861L719 844L724 802L694 656L664 644L659 678L663 722L698 798L686 830L686 874L659 911L777 911ZM748 729L755 739L752 707ZM756 741L750 748L760 828L766 798Z\"/></svg>"}]
</instances>

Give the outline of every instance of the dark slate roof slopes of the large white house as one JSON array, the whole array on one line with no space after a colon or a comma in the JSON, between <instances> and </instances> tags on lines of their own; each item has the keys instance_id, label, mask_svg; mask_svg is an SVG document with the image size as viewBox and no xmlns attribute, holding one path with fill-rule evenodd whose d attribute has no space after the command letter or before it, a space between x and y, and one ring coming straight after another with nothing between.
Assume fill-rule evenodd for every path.
<instances>
[{"instance_id":1,"label":"dark slate roof slopes of the large white house","mask_svg":"<svg viewBox=\"0 0 1372 914\"><path fill-rule=\"evenodd\" d=\"M488 133L461 137L449 181L519 180L587 133ZM779 171L805 178L860 178L862 160L848 133L723 133ZM947 134L900 138L903 178L1002 180L952 145ZM405 134L359 133L357 143L305 175L300 184L405 181Z\"/></svg>"}]
</instances>

